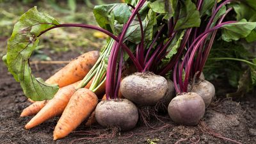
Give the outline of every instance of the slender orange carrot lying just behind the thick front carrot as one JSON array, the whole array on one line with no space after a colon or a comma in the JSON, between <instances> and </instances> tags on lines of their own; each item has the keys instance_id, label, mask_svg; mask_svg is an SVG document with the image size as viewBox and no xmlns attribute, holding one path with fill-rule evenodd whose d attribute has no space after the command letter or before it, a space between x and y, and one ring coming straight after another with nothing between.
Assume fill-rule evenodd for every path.
<instances>
[{"instance_id":1,"label":"slender orange carrot lying just behind the thick front carrot","mask_svg":"<svg viewBox=\"0 0 256 144\"><path fill-rule=\"evenodd\" d=\"M76 92L75 86L77 83L70 84L56 93L53 99L49 100L47 104L42 108L29 122L25 125L25 129L31 129L36 125L42 124L45 120L60 115L70 100L70 97ZM35 103L34 103L35 104Z\"/></svg>"}]
</instances>

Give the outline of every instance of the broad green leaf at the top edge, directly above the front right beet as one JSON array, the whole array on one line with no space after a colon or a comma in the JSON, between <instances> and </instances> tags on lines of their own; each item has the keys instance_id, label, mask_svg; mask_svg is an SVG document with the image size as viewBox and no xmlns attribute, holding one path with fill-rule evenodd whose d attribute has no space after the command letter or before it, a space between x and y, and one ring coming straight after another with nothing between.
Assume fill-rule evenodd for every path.
<instances>
[{"instance_id":1,"label":"broad green leaf at the top edge, directly above the front right beet","mask_svg":"<svg viewBox=\"0 0 256 144\"><path fill-rule=\"evenodd\" d=\"M196 9L196 5L191 0L180 0L180 13L175 30L193 28L200 26L200 13ZM177 9L178 10L178 9ZM177 11L176 10L176 11Z\"/></svg>"}]
</instances>

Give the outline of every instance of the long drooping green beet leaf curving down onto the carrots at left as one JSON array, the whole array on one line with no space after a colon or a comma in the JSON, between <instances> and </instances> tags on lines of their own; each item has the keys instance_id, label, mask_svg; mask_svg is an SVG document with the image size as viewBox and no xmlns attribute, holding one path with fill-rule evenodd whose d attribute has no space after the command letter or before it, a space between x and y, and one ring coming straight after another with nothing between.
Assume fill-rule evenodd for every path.
<instances>
[{"instance_id":1,"label":"long drooping green beet leaf curving down onto the carrots at left","mask_svg":"<svg viewBox=\"0 0 256 144\"><path fill-rule=\"evenodd\" d=\"M44 83L42 79L31 74L29 67L29 58L39 42L36 36L58 24L50 15L40 13L34 7L20 17L8 40L8 70L20 82L25 95L32 100L52 99L58 91L57 84Z\"/></svg>"}]
</instances>

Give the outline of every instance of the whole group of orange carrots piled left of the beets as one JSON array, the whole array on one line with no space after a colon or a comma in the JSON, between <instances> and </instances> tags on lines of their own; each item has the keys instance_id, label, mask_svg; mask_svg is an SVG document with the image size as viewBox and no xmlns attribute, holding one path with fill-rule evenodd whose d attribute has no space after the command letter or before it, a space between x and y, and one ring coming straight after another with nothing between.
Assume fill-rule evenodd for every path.
<instances>
[{"instance_id":1,"label":"whole group of orange carrots piled left of the beets","mask_svg":"<svg viewBox=\"0 0 256 144\"><path fill-rule=\"evenodd\" d=\"M58 140L67 136L86 120L98 104L98 97L95 93L102 94L104 85L95 93L88 90L93 79L84 88L76 89L76 86L88 74L98 58L98 51L86 52L47 79L46 83L57 83L60 89L53 99L33 102L22 111L21 117L35 115L25 125L25 129L31 129L54 116L61 115L53 132L54 140ZM93 118L92 114L87 124L93 124L95 122Z\"/></svg>"}]
</instances>

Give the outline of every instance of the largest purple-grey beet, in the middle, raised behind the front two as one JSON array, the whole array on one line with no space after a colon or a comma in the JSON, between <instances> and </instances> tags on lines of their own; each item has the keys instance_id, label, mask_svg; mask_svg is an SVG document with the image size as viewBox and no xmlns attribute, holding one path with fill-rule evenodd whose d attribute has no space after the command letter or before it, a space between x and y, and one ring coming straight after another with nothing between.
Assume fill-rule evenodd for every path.
<instances>
[{"instance_id":1,"label":"largest purple-grey beet, in the middle, raised behind the front two","mask_svg":"<svg viewBox=\"0 0 256 144\"><path fill-rule=\"evenodd\" d=\"M167 88L167 80L152 72L136 72L120 84L122 95L140 106L154 106L163 99Z\"/></svg>"}]
</instances>

